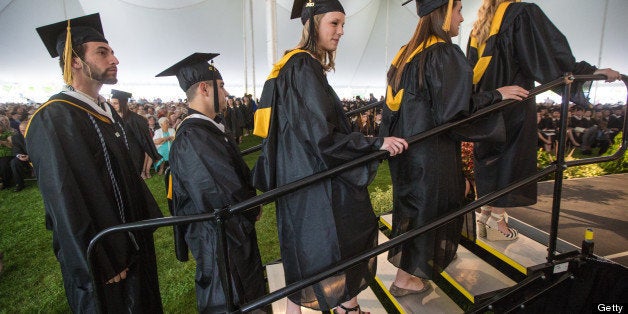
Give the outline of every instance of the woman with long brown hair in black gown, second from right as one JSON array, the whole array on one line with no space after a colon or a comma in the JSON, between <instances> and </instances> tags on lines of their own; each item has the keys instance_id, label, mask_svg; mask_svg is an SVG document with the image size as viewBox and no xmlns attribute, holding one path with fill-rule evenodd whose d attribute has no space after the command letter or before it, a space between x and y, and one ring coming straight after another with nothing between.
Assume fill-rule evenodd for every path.
<instances>
[{"instance_id":1,"label":"woman with long brown hair in black gown, second from right","mask_svg":"<svg viewBox=\"0 0 628 314\"><path fill-rule=\"evenodd\" d=\"M451 38L463 21L461 1L416 1L419 22L408 44L393 59L380 134L409 137L464 118L502 99L522 99L528 92L517 86L473 95L471 67ZM500 128L501 127L501 128ZM499 140L495 134L470 133L460 128L416 143L389 160L393 183L392 237L421 227L462 207L465 180L460 139ZM462 217L395 247L389 261L399 268L391 293L421 294L431 279L456 253Z\"/></svg>"}]
</instances>

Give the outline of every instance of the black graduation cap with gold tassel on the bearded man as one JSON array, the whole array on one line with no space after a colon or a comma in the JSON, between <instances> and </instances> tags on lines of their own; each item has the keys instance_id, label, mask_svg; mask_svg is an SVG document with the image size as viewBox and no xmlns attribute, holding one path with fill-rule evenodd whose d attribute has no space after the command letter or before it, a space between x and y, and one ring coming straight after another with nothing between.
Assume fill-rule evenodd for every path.
<instances>
[{"instance_id":1,"label":"black graduation cap with gold tassel on the bearded man","mask_svg":"<svg viewBox=\"0 0 628 314\"><path fill-rule=\"evenodd\" d=\"M63 56L63 80L68 85L72 84L72 63L66 60L72 58L72 47L87 42L108 43L98 13L41 26L37 28L37 33L51 57Z\"/></svg>"}]
</instances>

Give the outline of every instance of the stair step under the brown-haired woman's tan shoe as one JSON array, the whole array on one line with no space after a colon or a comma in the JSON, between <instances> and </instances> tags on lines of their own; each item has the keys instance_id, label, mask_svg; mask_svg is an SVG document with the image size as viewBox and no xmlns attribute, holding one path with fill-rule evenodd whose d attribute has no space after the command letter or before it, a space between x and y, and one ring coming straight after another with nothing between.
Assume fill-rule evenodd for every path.
<instances>
[{"instance_id":1,"label":"stair step under the brown-haired woman's tan shoe","mask_svg":"<svg viewBox=\"0 0 628 314\"><path fill-rule=\"evenodd\" d=\"M379 244L388 241L388 238L379 232ZM378 283L382 285L382 289L388 292L390 285L395 280L397 267L388 261L388 252L384 252L377 256L377 278ZM393 299L393 303L398 307L401 313L463 313L462 309L443 292L438 286L432 283L434 289L421 298L416 295L408 295ZM400 308L399 308L400 307Z\"/></svg>"}]
</instances>

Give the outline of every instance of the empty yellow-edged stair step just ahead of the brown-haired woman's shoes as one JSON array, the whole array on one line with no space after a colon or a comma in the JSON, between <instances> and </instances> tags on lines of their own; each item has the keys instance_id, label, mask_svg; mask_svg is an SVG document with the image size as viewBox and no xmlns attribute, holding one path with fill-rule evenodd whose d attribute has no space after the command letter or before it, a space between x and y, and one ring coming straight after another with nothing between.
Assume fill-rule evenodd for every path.
<instances>
[{"instance_id":1,"label":"empty yellow-edged stair step just ahead of the brown-haired woman's shoes","mask_svg":"<svg viewBox=\"0 0 628 314\"><path fill-rule=\"evenodd\" d=\"M387 226L392 223L392 215L384 215L381 219ZM476 296L516 284L515 281L463 246L458 246L456 254L457 258L441 275L471 302L475 301Z\"/></svg>"}]
</instances>

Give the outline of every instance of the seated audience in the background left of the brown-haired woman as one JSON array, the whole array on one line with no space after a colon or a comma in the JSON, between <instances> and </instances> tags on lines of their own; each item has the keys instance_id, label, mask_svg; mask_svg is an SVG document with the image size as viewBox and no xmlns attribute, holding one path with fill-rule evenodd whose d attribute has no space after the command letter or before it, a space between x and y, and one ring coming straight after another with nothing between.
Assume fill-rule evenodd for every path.
<instances>
[{"instance_id":1,"label":"seated audience in the background left of the brown-haired woman","mask_svg":"<svg viewBox=\"0 0 628 314\"><path fill-rule=\"evenodd\" d=\"M355 110L376 101L370 99L362 100L360 96L354 99L343 99L343 110L348 112ZM141 166L141 176L144 179L151 178L153 174L163 175L169 160L170 145L174 140L174 133L181 121L188 115L189 103L187 101L147 101L146 99L130 98L128 104L124 105L128 109L121 111L117 105L117 98L113 93L108 99L114 109L123 117L126 113L137 114L143 118L143 122L148 126L149 136L155 148L161 155L147 156L146 162ZM0 183L3 189L13 188L16 192L24 188L23 178L33 177L32 169L27 161L27 157L18 155L28 155L25 152L25 145L15 146L11 144L13 137L16 141L23 138L20 132L20 124L25 128L30 116L41 106L39 103L4 103L0 104ZM253 134L253 115L257 109L257 100L251 94L242 97L228 96L227 109L223 113L223 124L234 136L238 144L243 136ZM351 128L355 132L361 132L367 136L377 136L379 125L381 124L381 106L350 117ZM22 140L23 142L23 140ZM144 153L144 152L142 152ZM15 160L15 161L13 161ZM21 162L18 162L21 161ZM12 166L15 164L15 166ZM17 172L16 172L17 171Z\"/></svg>"}]
</instances>

